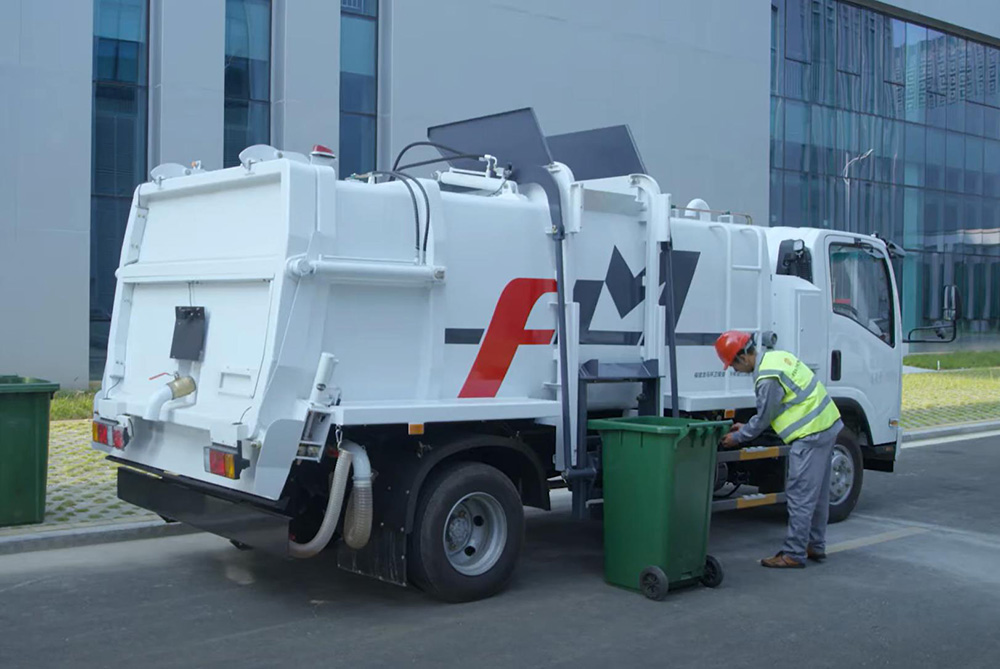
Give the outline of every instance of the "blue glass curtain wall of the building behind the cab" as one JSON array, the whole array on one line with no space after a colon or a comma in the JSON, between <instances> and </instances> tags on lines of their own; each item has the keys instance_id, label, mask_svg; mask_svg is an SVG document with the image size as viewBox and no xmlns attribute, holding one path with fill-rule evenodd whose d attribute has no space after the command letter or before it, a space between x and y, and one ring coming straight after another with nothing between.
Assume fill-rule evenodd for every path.
<instances>
[{"instance_id":1,"label":"blue glass curtain wall of the building behind the cab","mask_svg":"<svg viewBox=\"0 0 1000 669\"><path fill-rule=\"evenodd\" d=\"M995 341L1000 49L839 0L772 0L771 31L771 225L892 239L904 331L955 284Z\"/></svg>"}]
</instances>

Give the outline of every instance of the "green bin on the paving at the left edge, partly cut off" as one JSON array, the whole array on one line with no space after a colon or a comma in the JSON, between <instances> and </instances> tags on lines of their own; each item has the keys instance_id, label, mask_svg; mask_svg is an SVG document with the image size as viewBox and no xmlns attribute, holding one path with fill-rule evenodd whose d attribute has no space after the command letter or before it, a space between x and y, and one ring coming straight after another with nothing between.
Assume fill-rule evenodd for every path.
<instances>
[{"instance_id":1,"label":"green bin on the paving at the left edge, partly cut off","mask_svg":"<svg viewBox=\"0 0 1000 669\"><path fill-rule=\"evenodd\" d=\"M59 385L0 376L0 527L45 519L49 402Z\"/></svg>"}]
</instances>

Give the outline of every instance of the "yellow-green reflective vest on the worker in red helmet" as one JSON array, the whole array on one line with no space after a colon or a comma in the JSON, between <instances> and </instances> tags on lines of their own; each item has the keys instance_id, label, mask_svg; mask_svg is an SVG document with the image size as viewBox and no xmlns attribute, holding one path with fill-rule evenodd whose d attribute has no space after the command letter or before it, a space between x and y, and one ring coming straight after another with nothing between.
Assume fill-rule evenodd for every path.
<instances>
[{"instance_id":1,"label":"yellow-green reflective vest on the worker in red helmet","mask_svg":"<svg viewBox=\"0 0 1000 669\"><path fill-rule=\"evenodd\" d=\"M812 370L791 353L765 353L756 382L763 379L775 379L785 389L782 411L771 421L771 427L786 444L828 430L840 419L840 411L826 388Z\"/></svg>"}]
</instances>

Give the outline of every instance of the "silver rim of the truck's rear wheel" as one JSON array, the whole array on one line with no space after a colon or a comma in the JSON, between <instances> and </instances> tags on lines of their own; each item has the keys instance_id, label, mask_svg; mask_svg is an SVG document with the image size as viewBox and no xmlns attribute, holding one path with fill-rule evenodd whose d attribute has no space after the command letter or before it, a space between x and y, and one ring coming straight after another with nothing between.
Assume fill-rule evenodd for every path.
<instances>
[{"instance_id":1,"label":"silver rim of the truck's rear wheel","mask_svg":"<svg viewBox=\"0 0 1000 669\"><path fill-rule=\"evenodd\" d=\"M507 545L507 516L495 497L469 493L451 507L441 540L448 563L460 574L479 576L497 563Z\"/></svg>"}]
</instances>

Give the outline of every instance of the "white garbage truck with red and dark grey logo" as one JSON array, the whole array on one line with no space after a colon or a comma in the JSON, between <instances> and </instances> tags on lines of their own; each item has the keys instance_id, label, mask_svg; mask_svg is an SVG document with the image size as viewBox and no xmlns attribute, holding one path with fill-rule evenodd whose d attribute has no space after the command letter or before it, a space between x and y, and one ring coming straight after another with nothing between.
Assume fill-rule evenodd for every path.
<instances>
[{"instance_id":1,"label":"white garbage truck with red and dark grey logo","mask_svg":"<svg viewBox=\"0 0 1000 669\"><path fill-rule=\"evenodd\" d=\"M485 597L524 506L561 487L577 517L599 507L588 418L752 414L752 379L713 348L730 329L799 356L839 406L835 520L863 469L892 470L891 245L677 206L624 126L545 137L523 109L429 137L407 151L443 158L348 179L321 147L255 146L136 189L93 416L121 499ZM716 508L781 503L786 453L774 434L720 453Z\"/></svg>"}]
</instances>

